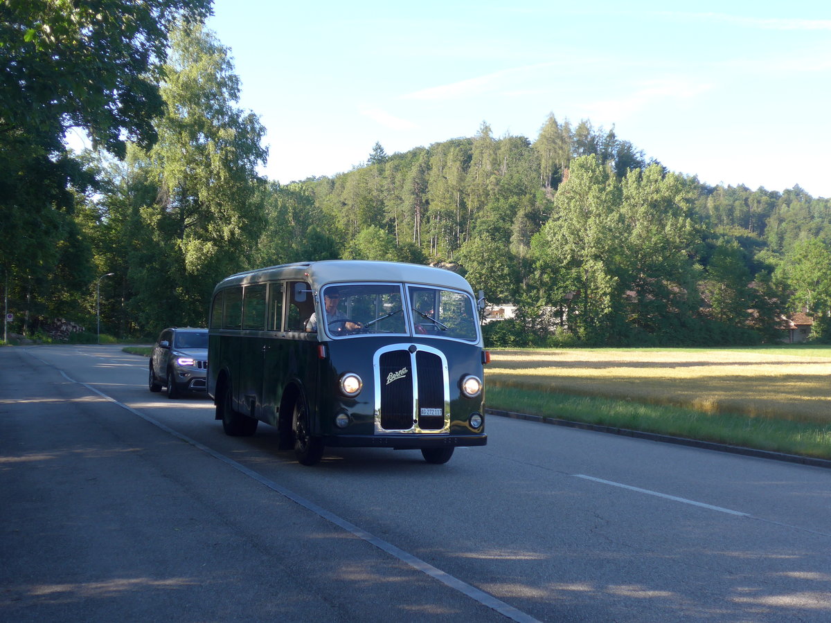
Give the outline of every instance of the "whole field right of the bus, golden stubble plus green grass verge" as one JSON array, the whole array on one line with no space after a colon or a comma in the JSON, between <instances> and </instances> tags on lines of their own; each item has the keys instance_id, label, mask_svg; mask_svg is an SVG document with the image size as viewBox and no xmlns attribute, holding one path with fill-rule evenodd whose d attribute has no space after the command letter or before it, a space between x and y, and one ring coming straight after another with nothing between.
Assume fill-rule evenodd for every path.
<instances>
[{"instance_id":1,"label":"whole field right of the bus, golden stubble plus green grass verge","mask_svg":"<svg viewBox=\"0 0 831 623\"><path fill-rule=\"evenodd\" d=\"M489 408L831 459L831 348L495 350Z\"/></svg>"}]
</instances>

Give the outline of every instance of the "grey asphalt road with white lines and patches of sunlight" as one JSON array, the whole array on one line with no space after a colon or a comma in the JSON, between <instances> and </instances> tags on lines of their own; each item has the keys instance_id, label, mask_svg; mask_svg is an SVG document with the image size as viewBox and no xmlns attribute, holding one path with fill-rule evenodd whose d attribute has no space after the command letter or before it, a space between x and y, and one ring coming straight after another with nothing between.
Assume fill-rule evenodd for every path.
<instances>
[{"instance_id":1,"label":"grey asphalt road with white lines and patches of sunlight","mask_svg":"<svg viewBox=\"0 0 831 623\"><path fill-rule=\"evenodd\" d=\"M491 417L229 438L115 346L0 348L0 621L831 621L831 470Z\"/></svg>"}]
</instances>

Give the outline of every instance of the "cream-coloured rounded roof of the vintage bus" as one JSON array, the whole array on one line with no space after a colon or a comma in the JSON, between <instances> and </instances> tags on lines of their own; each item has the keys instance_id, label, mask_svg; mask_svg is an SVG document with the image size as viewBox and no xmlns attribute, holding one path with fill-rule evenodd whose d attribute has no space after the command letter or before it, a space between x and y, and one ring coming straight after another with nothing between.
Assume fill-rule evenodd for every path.
<instances>
[{"instance_id":1,"label":"cream-coloured rounded roof of the vintage bus","mask_svg":"<svg viewBox=\"0 0 831 623\"><path fill-rule=\"evenodd\" d=\"M369 260L322 260L259 268L226 277L219 282L216 289L232 284L268 282L276 279L308 281L315 290L327 283L337 282L407 282L451 287L472 293L465 277L445 268Z\"/></svg>"}]
</instances>

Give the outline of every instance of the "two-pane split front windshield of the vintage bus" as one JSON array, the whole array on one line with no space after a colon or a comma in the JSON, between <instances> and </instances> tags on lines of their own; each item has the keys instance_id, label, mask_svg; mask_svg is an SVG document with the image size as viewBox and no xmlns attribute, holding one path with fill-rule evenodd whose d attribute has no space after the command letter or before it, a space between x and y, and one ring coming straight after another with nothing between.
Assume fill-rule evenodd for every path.
<instances>
[{"instance_id":1,"label":"two-pane split front windshield of the vintage bus","mask_svg":"<svg viewBox=\"0 0 831 623\"><path fill-rule=\"evenodd\" d=\"M358 283L322 289L322 312L329 336L423 335L476 341L478 318L464 292L440 287ZM316 324L316 323L312 323Z\"/></svg>"}]
</instances>

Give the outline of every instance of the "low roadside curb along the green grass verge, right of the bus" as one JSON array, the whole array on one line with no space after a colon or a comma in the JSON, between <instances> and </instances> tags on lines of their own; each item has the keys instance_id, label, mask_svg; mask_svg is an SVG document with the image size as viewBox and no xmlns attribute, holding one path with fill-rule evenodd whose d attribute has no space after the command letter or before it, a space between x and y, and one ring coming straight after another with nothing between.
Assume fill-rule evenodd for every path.
<instances>
[{"instance_id":1,"label":"low roadside curb along the green grass verge, right of the bus","mask_svg":"<svg viewBox=\"0 0 831 623\"><path fill-rule=\"evenodd\" d=\"M486 415L498 415L499 417L510 419L524 419L528 422L541 422L543 424L565 426L569 429L592 430L596 433L619 434L624 437L633 437L635 439L659 441L663 444L686 445L690 446L691 448L714 450L715 452L726 452L729 454L741 454L742 456L755 457L756 459L769 459L773 461L784 461L785 463L796 463L802 465L809 465L811 467L831 469L831 460L815 459L814 457L800 456L799 454L783 454L780 452L770 452L769 450L757 450L753 448L744 448L742 446L716 444L711 441L701 441L699 439L672 437L668 434L644 433L640 430L618 429L613 426L602 426L600 424L586 424L584 422L572 422L568 419L547 418L543 417L542 415L528 415L524 413L514 413L513 411L486 409L484 410L484 412Z\"/></svg>"}]
</instances>

